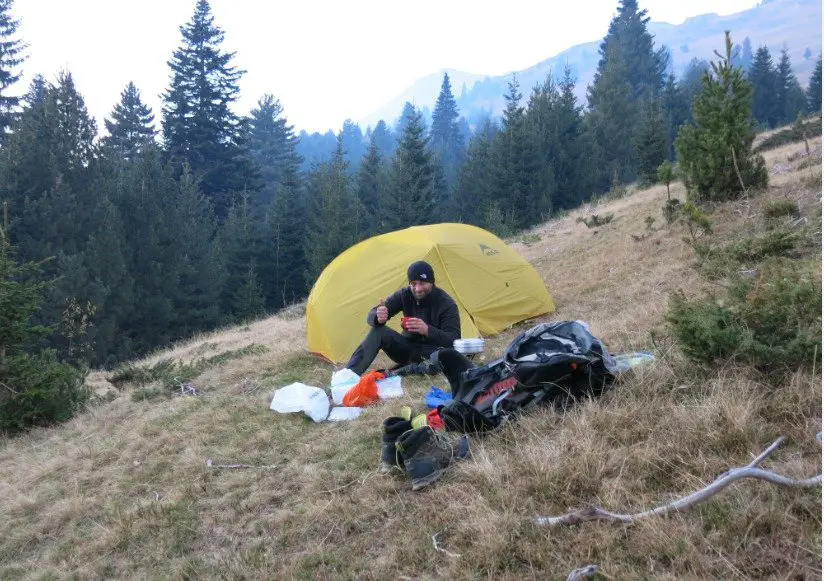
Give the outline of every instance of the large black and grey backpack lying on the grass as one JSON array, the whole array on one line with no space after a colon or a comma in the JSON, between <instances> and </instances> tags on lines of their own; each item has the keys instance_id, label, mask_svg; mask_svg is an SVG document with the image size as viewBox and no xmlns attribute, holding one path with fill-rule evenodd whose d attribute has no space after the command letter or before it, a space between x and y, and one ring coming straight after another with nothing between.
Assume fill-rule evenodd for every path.
<instances>
[{"instance_id":1,"label":"large black and grey backpack lying on the grass","mask_svg":"<svg viewBox=\"0 0 824 581\"><path fill-rule=\"evenodd\" d=\"M438 410L448 430L488 432L531 406L566 407L600 395L616 373L612 356L585 323L543 323L518 335L502 358L465 371L453 401Z\"/></svg>"}]
</instances>

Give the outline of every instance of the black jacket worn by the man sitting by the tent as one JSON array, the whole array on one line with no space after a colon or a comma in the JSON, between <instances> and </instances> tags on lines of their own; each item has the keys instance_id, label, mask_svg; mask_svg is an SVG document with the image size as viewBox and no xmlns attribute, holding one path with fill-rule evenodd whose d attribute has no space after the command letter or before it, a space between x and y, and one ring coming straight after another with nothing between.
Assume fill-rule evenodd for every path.
<instances>
[{"instance_id":1,"label":"black jacket worn by the man sitting by the tent","mask_svg":"<svg viewBox=\"0 0 824 581\"><path fill-rule=\"evenodd\" d=\"M412 294L409 287L393 293L384 303L391 319L403 312L405 317L421 319L429 325L429 336L424 337L417 333L403 332L403 336L413 345L418 345L424 353L429 353L440 347L452 347L456 339L461 338L461 317L458 314L458 305L446 291L434 287L426 298L420 301ZM373 327L380 327L376 320L377 307L369 311L366 322Z\"/></svg>"}]
</instances>

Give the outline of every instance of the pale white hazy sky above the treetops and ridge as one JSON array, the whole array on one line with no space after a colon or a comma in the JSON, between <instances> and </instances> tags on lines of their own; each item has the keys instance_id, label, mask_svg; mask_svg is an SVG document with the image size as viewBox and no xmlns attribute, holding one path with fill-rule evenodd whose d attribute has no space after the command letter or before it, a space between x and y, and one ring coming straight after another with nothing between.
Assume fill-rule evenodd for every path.
<instances>
[{"instance_id":1,"label":"pale white hazy sky above the treetops and ridge","mask_svg":"<svg viewBox=\"0 0 824 581\"><path fill-rule=\"evenodd\" d=\"M160 119L167 61L195 0L17 0L12 14L29 45L31 76L74 76L89 112L108 116L134 81ZM653 20L731 14L757 0L640 0ZM617 0L484 2L468 0L212 0L226 50L247 71L238 113L264 93L280 99L289 122L308 131L338 130L377 110L416 79L443 68L500 75L564 49L600 39ZM434 98L434 96L433 96Z\"/></svg>"}]
</instances>

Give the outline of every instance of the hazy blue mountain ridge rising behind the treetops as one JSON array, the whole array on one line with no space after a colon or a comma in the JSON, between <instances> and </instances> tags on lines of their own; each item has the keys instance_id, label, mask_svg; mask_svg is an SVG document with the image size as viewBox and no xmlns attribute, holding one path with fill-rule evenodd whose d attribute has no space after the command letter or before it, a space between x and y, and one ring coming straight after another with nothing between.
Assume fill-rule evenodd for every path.
<instances>
[{"instance_id":1,"label":"hazy blue mountain ridge rising behind the treetops","mask_svg":"<svg viewBox=\"0 0 824 581\"><path fill-rule=\"evenodd\" d=\"M737 44L749 37L753 52L766 44L775 62L781 48L786 45L795 74L801 85L806 87L821 53L821 4L821 0L764 0L749 10L728 16L703 14L688 18L680 25L650 22L648 26L655 36L656 46L663 44L669 48L672 72L676 77L680 77L693 58L716 58L713 51L723 49L724 31L730 30L733 42ZM560 77L564 65L569 64L578 79L576 94L580 102L585 103L587 86L598 67L600 44L600 41L579 44L528 69L517 71L515 75L524 97L529 95L532 87L543 83L550 72ZM446 72L449 73L461 115L467 120L471 122L478 116L498 115L503 110L503 96L507 93L511 74L490 77L455 70ZM380 119L393 124L406 101L420 108L432 109L443 73L441 70L419 79L379 110L360 120L360 125L374 127ZM466 91L462 91L464 85Z\"/></svg>"}]
</instances>

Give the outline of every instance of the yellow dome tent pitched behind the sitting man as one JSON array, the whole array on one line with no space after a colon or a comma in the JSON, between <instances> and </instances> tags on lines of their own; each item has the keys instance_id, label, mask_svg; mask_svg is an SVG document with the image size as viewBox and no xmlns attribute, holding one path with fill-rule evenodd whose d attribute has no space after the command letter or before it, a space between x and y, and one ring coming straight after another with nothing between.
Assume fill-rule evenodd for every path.
<instances>
[{"instance_id":1,"label":"yellow dome tent pitched behind the sitting man","mask_svg":"<svg viewBox=\"0 0 824 581\"><path fill-rule=\"evenodd\" d=\"M369 331L369 310L406 286L416 260L432 265L437 286L458 303L464 338L555 310L532 265L494 234L466 224L413 226L364 240L324 269L306 304L309 351L348 361ZM400 331L400 316L388 325Z\"/></svg>"}]
</instances>

